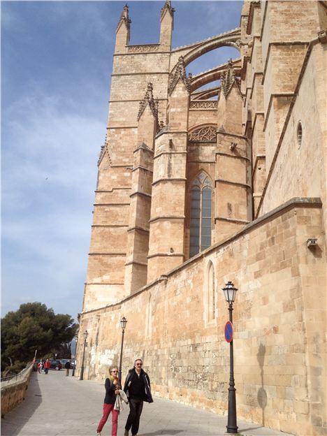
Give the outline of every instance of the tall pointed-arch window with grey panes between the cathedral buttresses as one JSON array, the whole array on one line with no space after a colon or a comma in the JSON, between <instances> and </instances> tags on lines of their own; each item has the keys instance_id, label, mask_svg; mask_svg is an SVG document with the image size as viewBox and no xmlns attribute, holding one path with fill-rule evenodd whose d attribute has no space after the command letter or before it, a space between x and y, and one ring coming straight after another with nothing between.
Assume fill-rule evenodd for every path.
<instances>
[{"instance_id":1,"label":"tall pointed-arch window with grey panes between the cathedral buttresses","mask_svg":"<svg viewBox=\"0 0 327 436\"><path fill-rule=\"evenodd\" d=\"M191 221L189 256L202 252L211 245L212 183L200 173L191 185Z\"/></svg>"}]
</instances>

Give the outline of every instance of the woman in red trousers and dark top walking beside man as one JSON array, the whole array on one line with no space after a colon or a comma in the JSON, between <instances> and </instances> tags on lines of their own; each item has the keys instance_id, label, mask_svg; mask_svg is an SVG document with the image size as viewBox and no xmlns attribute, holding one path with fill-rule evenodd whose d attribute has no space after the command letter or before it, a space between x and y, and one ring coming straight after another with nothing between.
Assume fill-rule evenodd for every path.
<instances>
[{"instance_id":1,"label":"woman in red trousers and dark top walking beside man","mask_svg":"<svg viewBox=\"0 0 327 436\"><path fill-rule=\"evenodd\" d=\"M119 389L121 388L119 385L117 366L110 367L110 375L108 379L106 379L105 387L106 387L106 396L103 402L103 416L99 422L98 428L96 429L96 434L101 435L101 430L103 426L106 424L108 416L111 412L111 416L112 416L111 436L117 436L119 412L114 409L114 406L116 401L116 395L119 395Z\"/></svg>"}]
</instances>

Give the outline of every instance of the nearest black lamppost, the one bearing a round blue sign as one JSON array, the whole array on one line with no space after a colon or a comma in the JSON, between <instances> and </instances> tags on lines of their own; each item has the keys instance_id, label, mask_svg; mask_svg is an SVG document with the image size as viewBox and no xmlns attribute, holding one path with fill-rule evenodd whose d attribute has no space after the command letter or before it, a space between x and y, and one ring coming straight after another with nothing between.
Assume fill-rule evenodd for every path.
<instances>
[{"instance_id":1,"label":"nearest black lamppost, the one bearing a round blue sign","mask_svg":"<svg viewBox=\"0 0 327 436\"><path fill-rule=\"evenodd\" d=\"M222 289L228 303L229 321L233 324L233 303L235 301L236 291L232 282L226 283ZM233 354L233 339L229 343L229 387L228 387L228 420L227 433L238 433L238 425L236 423L236 389L234 383L234 354Z\"/></svg>"}]
</instances>

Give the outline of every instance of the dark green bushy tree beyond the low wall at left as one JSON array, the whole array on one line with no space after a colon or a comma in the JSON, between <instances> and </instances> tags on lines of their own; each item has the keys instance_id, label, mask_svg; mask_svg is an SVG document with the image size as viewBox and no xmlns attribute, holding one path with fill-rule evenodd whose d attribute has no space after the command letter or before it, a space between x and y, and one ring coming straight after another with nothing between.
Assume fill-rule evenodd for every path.
<instances>
[{"instance_id":1,"label":"dark green bushy tree beyond the low wall at left","mask_svg":"<svg viewBox=\"0 0 327 436\"><path fill-rule=\"evenodd\" d=\"M78 325L68 314L54 314L42 303L25 303L1 319L1 368L59 350L73 339Z\"/></svg>"}]
</instances>

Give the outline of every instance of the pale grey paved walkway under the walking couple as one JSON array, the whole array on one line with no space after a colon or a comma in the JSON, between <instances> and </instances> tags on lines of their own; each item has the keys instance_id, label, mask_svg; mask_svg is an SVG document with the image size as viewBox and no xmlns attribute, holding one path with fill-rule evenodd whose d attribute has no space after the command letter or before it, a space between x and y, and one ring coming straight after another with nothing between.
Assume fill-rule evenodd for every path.
<instances>
[{"instance_id":1,"label":"pale grey paved walkway under the walking couple","mask_svg":"<svg viewBox=\"0 0 327 436\"><path fill-rule=\"evenodd\" d=\"M95 436L104 398L103 382L80 381L65 371L31 375L21 405L1 419L2 436ZM128 405L119 416L117 436L124 435ZM138 436L219 436L226 434L227 417L180 403L154 398L145 403ZM286 433L238 421L242 435L286 436ZM111 416L102 430L111 435Z\"/></svg>"}]
</instances>

